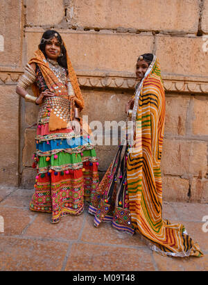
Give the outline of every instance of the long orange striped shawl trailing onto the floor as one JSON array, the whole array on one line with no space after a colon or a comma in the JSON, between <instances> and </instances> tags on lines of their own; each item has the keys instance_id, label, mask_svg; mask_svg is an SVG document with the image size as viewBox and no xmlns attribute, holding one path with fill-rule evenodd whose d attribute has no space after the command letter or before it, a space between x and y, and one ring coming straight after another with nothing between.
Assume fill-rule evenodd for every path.
<instances>
[{"instance_id":1,"label":"long orange striped shawl trailing onto the floor","mask_svg":"<svg viewBox=\"0 0 208 285\"><path fill-rule=\"evenodd\" d=\"M135 230L160 254L202 256L180 223L162 219L160 161L164 138L165 96L159 60L152 63L135 93L132 121L135 145L127 161L129 209ZM171 187L171 185L170 185Z\"/></svg>"}]
</instances>

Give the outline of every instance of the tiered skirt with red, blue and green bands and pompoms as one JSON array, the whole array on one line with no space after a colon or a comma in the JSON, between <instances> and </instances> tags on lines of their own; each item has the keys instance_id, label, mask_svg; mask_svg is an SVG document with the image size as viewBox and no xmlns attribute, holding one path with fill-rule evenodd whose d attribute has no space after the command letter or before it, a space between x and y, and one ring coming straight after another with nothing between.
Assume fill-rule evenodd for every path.
<instances>
[{"instance_id":1,"label":"tiered skirt with red, blue and green bands and pompoms","mask_svg":"<svg viewBox=\"0 0 208 285\"><path fill-rule=\"evenodd\" d=\"M98 161L89 135L74 136L70 129L49 131L37 127L33 167L37 168L30 209L52 213L51 222L63 215L80 215L98 186Z\"/></svg>"}]
</instances>

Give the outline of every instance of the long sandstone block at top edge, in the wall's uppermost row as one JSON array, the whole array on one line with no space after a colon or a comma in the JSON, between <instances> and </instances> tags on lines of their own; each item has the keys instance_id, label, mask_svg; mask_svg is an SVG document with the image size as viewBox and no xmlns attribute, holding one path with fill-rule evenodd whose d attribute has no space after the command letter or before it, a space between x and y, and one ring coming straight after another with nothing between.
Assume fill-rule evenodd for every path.
<instances>
[{"instance_id":1,"label":"long sandstone block at top edge, in the wall's uppermost row","mask_svg":"<svg viewBox=\"0 0 208 285\"><path fill-rule=\"evenodd\" d=\"M198 13L196 0L73 0L67 17L83 27L197 33Z\"/></svg>"}]
</instances>

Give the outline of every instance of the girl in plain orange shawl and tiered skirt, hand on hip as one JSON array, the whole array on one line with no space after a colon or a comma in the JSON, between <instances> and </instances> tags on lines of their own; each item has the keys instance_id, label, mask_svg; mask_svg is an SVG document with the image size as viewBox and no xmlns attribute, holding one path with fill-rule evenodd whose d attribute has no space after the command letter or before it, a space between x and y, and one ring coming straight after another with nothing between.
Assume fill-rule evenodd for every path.
<instances>
[{"instance_id":1,"label":"girl in plain orange shawl and tiered skirt, hand on hip","mask_svg":"<svg viewBox=\"0 0 208 285\"><path fill-rule=\"evenodd\" d=\"M31 86L35 96L28 95ZM52 213L51 222L80 215L98 184L98 162L88 133L80 133L84 107L76 73L57 31L42 35L39 48L17 84L17 94L40 105L33 167L37 168L32 211Z\"/></svg>"}]
</instances>

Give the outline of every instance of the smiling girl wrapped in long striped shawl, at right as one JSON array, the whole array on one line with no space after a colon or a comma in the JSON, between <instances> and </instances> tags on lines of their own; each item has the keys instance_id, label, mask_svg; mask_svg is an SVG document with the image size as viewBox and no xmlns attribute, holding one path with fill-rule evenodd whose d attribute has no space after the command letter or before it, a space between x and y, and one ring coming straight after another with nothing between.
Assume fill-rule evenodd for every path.
<instances>
[{"instance_id":1,"label":"smiling girl wrapped in long striped shawl, at right","mask_svg":"<svg viewBox=\"0 0 208 285\"><path fill-rule=\"evenodd\" d=\"M152 250L173 257L202 256L180 223L162 219L160 161L164 138L165 95L159 60L143 54L137 60L139 83L126 105L128 144L123 144L92 192L89 213L94 225L112 222L121 231L139 233Z\"/></svg>"}]
</instances>

